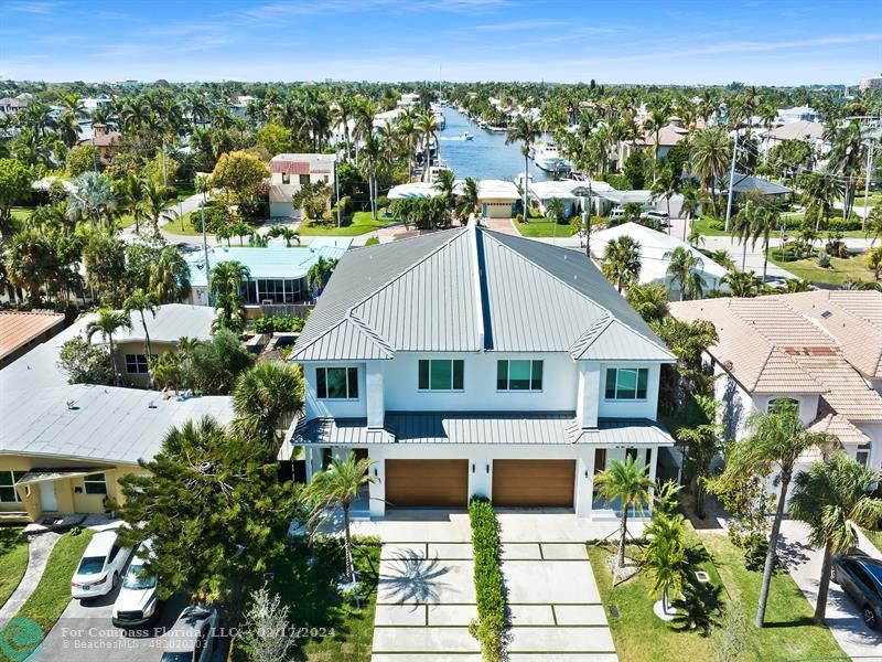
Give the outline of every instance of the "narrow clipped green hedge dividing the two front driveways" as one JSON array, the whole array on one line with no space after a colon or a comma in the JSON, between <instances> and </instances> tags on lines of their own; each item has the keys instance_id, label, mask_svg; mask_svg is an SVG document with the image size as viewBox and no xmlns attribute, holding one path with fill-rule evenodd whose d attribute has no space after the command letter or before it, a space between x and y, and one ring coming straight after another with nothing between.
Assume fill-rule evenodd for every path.
<instances>
[{"instance_id":1,"label":"narrow clipped green hedge dividing the two front driveways","mask_svg":"<svg viewBox=\"0 0 882 662\"><path fill-rule=\"evenodd\" d=\"M477 598L477 621L472 621L469 631L481 642L484 660L498 662L503 659L505 631L505 596L503 574L499 569L499 525L490 501L482 496L475 496L469 502L469 520L472 523Z\"/></svg>"}]
</instances>

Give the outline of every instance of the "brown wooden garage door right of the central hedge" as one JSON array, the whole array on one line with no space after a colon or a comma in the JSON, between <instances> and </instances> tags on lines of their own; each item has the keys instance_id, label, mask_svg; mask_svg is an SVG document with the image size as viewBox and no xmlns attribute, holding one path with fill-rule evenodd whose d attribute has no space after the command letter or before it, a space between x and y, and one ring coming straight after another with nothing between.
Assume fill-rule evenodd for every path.
<instances>
[{"instance_id":1,"label":"brown wooden garage door right of the central hedge","mask_svg":"<svg viewBox=\"0 0 882 662\"><path fill-rule=\"evenodd\" d=\"M572 508L576 460L494 460L493 505Z\"/></svg>"}]
</instances>

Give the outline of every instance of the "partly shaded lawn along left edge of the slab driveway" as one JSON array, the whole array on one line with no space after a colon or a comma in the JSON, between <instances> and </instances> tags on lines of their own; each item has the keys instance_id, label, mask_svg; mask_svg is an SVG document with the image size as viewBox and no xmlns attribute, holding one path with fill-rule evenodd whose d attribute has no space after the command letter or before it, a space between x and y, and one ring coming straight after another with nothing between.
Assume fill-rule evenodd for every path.
<instances>
[{"instance_id":1,"label":"partly shaded lawn along left edge of the slab driveway","mask_svg":"<svg viewBox=\"0 0 882 662\"><path fill-rule=\"evenodd\" d=\"M316 563L310 565L311 553ZM337 543L319 543L312 547L294 545L287 557L273 567L270 588L278 591L289 608L291 624L306 633L298 640L292 660L315 662L369 662L374 642L374 611L379 574L379 544L362 541L355 547L355 565L362 583L354 600L336 589L343 572L343 549ZM244 660L237 651L236 660Z\"/></svg>"}]
</instances>

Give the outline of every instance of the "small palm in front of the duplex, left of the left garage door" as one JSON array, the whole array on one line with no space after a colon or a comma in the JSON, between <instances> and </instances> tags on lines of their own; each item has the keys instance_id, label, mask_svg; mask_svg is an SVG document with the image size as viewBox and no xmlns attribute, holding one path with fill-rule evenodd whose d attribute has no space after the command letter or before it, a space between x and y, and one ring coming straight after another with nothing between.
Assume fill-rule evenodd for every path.
<instances>
[{"instance_id":1,"label":"small palm in front of the duplex, left of the left garage door","mask_svg":"<svg viewBox=\"0 0 882 662\"><path fill-rule=\"evenodd\" d=\"M343 510L343 551L346 559L346 579L355 583L355 564L352 558L349 533L349 506L358 498L362 485L375 482L370 474L373 461L355 458L349 451L345 458L335 457L323 471L312 476L312 482L303 489L302 503L309 508L309 524L312 531L330 519L337 509Z\"/></svg>"}]
</instances>

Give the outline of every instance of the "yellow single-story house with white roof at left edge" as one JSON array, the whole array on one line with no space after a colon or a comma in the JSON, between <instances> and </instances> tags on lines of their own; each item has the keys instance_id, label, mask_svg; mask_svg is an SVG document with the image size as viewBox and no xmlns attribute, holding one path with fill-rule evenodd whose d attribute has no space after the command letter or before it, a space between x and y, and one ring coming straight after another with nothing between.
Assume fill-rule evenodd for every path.
<instances>
[{"instance_id":1,"label":"yellow single-story house with white roof at left edge","mask_svg":"<svg viewBox=\"0 0 882 662\"><path fill-rule=\"evenodd\" d=\"M175 334L205 337L205 312L211 311L169 305L155 320L148 316L154 351ZM123 360L128 353L143 355L140 318L133 317L132 334L119 337ZM233 419L228 396L170 397L68 384L57 366L58 351L94 318L83 317L0 370L0 522L104 513L106 498L122 500L118 479L143 471L138 460L151 459L172 426L206 415L222 424Z\"/></svg>"}]
</instances>

